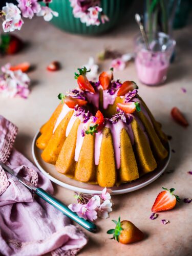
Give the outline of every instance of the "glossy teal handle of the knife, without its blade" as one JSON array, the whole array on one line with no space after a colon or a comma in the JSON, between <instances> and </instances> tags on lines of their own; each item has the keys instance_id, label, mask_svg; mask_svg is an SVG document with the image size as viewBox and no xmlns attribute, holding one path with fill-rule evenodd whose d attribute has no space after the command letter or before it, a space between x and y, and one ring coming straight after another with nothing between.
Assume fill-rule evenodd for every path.
<instances>
[{"instance_id":1,"label":"glossy teal handle of the knife, without its blade","mask_svg":"<svg viewBox=\"0 0 192 256\"><path fill-rule=\"evenodd\" d=\"M81 225L82 227L86 228L91 232L96 232L97 226L90 221L84 220L83 218L78 217L78 215L70 210L67 205L63 204L61 201L57 200L50 194L48 194L44 189L37 188L35 192L39 197L53 205L55 208L60 210L63 214L68 216L70 219Z\"/></svg>"}]
</instances>

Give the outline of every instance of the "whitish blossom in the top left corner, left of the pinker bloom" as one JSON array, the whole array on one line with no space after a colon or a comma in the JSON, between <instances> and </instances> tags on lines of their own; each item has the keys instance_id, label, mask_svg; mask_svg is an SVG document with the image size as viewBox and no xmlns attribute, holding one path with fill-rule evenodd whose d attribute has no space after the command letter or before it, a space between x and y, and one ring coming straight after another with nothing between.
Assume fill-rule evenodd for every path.
<instances>
[{"instance_id":1,"label":"whitish blossom in the top left corner, left of the pinker bloom","mask_svg":"<svg viewBox=\"0 0 192 256\"><path fill-rule=\"evenodd\" d=\"M6 3L6 6L2 8L6 20L13 20L16 23L20 20L20 10L18 7L12 3Z\"/></svg>"}]
</instances>

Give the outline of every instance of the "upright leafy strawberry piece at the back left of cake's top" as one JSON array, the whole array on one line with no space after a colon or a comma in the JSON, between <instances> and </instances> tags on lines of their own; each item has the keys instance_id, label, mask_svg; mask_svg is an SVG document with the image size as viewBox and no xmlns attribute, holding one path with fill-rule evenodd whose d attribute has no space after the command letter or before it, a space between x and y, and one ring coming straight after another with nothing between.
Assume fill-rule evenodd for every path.
<instances>
[{"instance_id":1,"label":"upright leafy strawberry piece at the back left of cake's top","mask_svg":"<svg viewBox=\"0 0 192 256\"><path fill-rule=\"evenodd\" d=\"M95 93L93 86L91 85L90 81L86 76L86 73L90 72L90 70L87 70L86 67L83 67L82 69L78 69L78 71L79 74L75 73L75 79L77 79L79 88L83 91Z\"/></svg>"}]
</instances>

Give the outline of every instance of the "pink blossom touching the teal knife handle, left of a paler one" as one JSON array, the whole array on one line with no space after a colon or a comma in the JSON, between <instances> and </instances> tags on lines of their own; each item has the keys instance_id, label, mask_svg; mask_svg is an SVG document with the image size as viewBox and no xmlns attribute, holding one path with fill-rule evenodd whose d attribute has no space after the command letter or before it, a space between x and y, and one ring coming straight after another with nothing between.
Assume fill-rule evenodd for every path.
<instances>
[{"instance_id":1,"label":"pink blossom touching the teal knife handle, left of a paler one","mask_svg":"<svg viewBox=\"0 0 192 256\"><path fill-rule=\"evenodd\" d=\"M97 219L97 211L96 209L100 206L100 198L99 196L93 196L87 204L70 204L69 208L77 212L77 215L80 218L85 220L96 220Z\"/></svg>"}]
</instances>

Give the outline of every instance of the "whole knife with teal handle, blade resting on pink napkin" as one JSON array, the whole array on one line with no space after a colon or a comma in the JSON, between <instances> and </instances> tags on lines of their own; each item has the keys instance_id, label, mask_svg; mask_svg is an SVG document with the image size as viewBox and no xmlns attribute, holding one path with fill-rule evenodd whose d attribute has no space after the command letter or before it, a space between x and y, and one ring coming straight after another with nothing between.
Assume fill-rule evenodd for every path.
<instances>
[{"instance_id":1,"label":"whole knife with teal handle, blade resting on pink napkin","mask_svg":"<svg viewBox=\"0 0 192 256\"><path fill-rule=\"evenodd\" d=\"M68 216L70 219L78 223L83 228L86 228L90 232L96 232L97 226L88 220L84 220L78 215L70 210L67 205L63 204L61 201L56 199L55 197L51 196L49 193L47 193L44 189L40 187L34 186L31 182L27 181L25 178L19 176L12 170L9 166L5 165L4 163L0 162L0 165L3 167L4 170L6 170L9 174L11 174L13 177L15 177L20 183L22 183L24 186L26 186L29 190L33 191L37 196L41 197L45 201L47 201L49 204L53 205L55 208L60 210L63 214Z\"/></svg>"}]
</instances>

